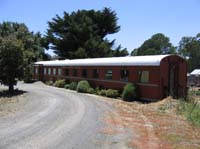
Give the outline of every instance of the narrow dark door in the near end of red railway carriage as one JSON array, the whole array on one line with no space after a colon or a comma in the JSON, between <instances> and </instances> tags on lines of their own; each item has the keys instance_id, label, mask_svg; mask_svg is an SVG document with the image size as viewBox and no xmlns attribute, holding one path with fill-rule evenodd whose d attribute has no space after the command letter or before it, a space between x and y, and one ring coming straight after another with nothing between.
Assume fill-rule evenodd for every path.
<instances>
[{"instance_id":1,"label":"narrow dark door in the near end of red railway carriage","mask_svg":"<svg viewBox=\"0 0 200 149\"><path fill-rule=\"evenodd\" d=\"M175 63L170 64L169 68L169 95L178 95L178 66Z\"/></svg>"}]
</instances>

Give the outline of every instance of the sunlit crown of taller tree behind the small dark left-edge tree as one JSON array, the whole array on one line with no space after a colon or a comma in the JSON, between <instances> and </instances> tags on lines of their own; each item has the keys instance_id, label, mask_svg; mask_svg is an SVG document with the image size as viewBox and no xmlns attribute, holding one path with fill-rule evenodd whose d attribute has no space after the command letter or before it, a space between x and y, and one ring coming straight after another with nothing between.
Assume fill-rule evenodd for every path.
<instances>
[{"instance_id":1,"label":"sunlit crown of taller tree behind the small dark left-edge tree","mask_svg":"<svg viewBox=\"0 0 200 149\"><path fill-rule=\"evenodd\" d=\"M44 52L44 39L41 34L30 32L25 24L0 23L0 37L6 38L8 36L13 36L22 42L27 63L47 58Z\"/></svg>"}]
</instances>

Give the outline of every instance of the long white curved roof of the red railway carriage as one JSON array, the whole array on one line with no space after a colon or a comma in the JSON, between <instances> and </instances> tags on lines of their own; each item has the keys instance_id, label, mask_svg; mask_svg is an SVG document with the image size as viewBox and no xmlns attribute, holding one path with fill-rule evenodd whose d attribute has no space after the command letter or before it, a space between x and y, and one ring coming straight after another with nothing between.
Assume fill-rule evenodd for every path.
<instances>
[{"instance_id":1,"label":"long white curved roof of the red railway carriage","mask_svg":"<svg viewBox=\"0 0 200 149\"><path fill-rule=\"evenodd\" d=\"M40 61L44 66L159 66L160 61L169 55L126 56L111 58L90 58L73 60Z\"/></svg>"}]
</instances>

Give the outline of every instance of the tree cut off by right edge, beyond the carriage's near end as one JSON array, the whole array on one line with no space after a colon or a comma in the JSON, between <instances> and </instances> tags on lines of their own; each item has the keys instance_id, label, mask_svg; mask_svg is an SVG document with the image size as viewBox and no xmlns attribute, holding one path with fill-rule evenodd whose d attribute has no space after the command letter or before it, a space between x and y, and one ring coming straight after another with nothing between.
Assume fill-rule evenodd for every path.
<instances>
[{"instance_id":1,"label":"tree cut off by right edge, beyond the carriage's near end","mask_svg":"<svg viewBox=\"0 0 200 149\"><path fill-rule=\"evenodd\" d=\"M200 33L195 37L182 37L178 53L188 61L188 71L200 68Z\"/></svg>"}]
</instances>

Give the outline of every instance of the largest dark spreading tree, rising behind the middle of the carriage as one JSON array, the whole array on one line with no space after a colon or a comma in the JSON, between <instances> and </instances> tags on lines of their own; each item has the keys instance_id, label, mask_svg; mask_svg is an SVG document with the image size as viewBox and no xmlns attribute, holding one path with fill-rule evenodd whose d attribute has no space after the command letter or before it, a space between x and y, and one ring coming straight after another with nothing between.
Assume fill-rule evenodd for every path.
<instances>
[{"instance_id":1,"label":"largest dark spreading tree, rising behind the middle of the carriage","mask_svg":"<svg viewBox=\"0 0 200 149\"><path fill-rule=\"evenodd\" d=\"M104 8L102 11L78 10L64 16L56 15L48 22L47 44L63 58L92 58L113 56L115 40L109 41L108 34L117 33L115 11ZM126 49L118 49L116 55L124 55Z\"/></svg>"}]
</instances>

